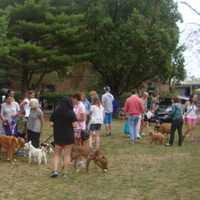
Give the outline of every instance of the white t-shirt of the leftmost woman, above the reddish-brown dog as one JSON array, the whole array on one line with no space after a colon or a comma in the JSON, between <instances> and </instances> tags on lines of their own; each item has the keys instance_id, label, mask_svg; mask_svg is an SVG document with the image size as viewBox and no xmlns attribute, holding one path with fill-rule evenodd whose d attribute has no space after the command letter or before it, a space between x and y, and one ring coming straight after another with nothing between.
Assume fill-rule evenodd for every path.
<instances>
[{"instance_id":1,"label":"white t-shirt of the leftmost woman, above the reddish-brown dog","mask_svg":"<svg viewBox=\"0 0 200 200\"><path fill-rule=\"evenodd\" d=\"M1 105L1 116L3 119L8 120L8 122L11 122L13 116L17 115L19 111L19 104L15 101L11 104L3 103Z\"/></svg>"}]
</instances>

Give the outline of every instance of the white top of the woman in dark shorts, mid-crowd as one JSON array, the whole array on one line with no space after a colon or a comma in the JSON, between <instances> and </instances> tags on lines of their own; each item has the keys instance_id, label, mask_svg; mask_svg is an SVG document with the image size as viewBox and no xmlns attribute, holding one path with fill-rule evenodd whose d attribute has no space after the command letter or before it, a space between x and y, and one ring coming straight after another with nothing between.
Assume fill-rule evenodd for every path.
<instances>
[{"instance_id":1,"label":"white top of the woman in dark shorts, mid-crowd","mask_svg":"<svg viewBox=\"0 0 200 200\"><path fill-rule=\"evenodd\" d=\"M102 105L91 106L90 124L103 124L104 108Z\"/></svg>"}]
</instances>

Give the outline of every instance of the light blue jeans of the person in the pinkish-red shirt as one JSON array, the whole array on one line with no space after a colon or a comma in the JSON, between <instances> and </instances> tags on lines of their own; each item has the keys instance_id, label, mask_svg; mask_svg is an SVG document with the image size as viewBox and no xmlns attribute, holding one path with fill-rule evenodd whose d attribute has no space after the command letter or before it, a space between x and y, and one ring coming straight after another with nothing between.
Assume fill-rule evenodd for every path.
<instances>
[{"instance_id":1,"label":"light blue jeans of the person in the pinkish-red shirt","mask_svg":"<svg viewBox=\"0 0 200 200\"><path fill-rule=\"evenodd\" d=\"M128 117L128 127L130 133L130 139L132 142L135 142L137 139L137 123L139 116L129 116Z\"/></svg>"}]
</instances>

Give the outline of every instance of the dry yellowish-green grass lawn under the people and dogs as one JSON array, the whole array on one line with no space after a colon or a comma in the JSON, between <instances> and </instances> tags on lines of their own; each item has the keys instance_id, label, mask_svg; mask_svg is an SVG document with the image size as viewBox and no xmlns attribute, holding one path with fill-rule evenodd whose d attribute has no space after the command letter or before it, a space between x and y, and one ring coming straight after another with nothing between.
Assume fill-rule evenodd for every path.
<instances>
[{"instance_id":1,"label":"dry yellowish-green grass lawn under the people and dogs","mask_svg":"<svg viewBox=\"0 0 200 200\"><path fill-rule=\"evenodd\" d=\"M198 131L198 130L197 130ZM146 131L148 132L148 131ZM43 137L52 133L46 123ZM52 179L47 166L0 161L0 200L199 200L200 144L186 139L182 147L149 143L149 137L132 145L122 134L122 122L114 122L113 136L105 137L102 149L109 172L90 166L85 172L70 172L69 178Z\"/></svg>"}]
</instances>

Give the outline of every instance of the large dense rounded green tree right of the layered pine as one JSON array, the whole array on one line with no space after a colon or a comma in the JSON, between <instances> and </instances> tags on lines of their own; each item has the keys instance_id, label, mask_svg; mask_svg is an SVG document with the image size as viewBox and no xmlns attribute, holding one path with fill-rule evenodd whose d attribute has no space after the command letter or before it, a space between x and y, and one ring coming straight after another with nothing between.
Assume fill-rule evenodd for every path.
<instances>
[{"instance_id":1,"label":"large dense rounded green tree right of the layered pine","mask_svg":"<svg viewBox=\"0 0 200 200\"><path fill-rule=\"evenodd\" d=\"M172 0L89 2L90 61L116 97L172 71L180 19Z\"/></svg>"}]
</instances>

